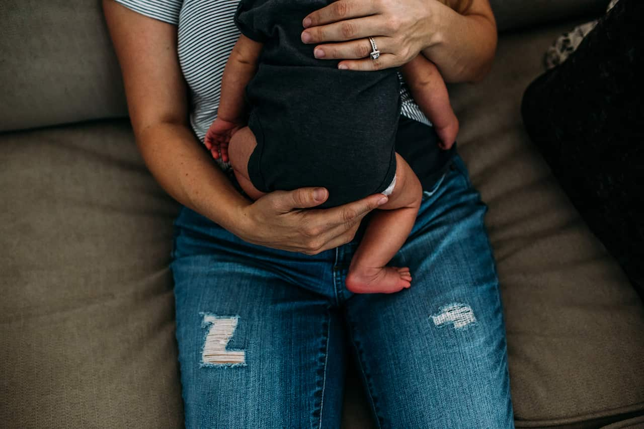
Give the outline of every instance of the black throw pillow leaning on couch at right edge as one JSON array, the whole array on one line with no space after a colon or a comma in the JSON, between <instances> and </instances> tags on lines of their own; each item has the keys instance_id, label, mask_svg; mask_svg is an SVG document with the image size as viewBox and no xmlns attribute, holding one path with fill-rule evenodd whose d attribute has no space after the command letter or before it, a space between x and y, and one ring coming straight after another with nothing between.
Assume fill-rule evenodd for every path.
<instances>
[{"instance_id":1,"label":"black throw pillow leaning on couch at right edge","mask_svg":"<svg viewBox=\"0 0 644 429\"><path fill-rule=\"evenodd\" d=\"M644 296L644 1L620 0L524 93L527 133Z\"/></svg>"}]
</instances>

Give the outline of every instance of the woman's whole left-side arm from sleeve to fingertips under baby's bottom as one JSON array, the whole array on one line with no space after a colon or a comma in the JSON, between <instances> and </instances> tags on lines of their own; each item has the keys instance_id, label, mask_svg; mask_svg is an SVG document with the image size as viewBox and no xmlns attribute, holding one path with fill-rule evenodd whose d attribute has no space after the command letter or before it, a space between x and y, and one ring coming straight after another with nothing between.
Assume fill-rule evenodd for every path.
<instances>
[{"instance_id":1,"label":"woman's whole left-side arm from sleeve to fingertips under baby's bottom","mask_svg":"<svg viewBox=\"0 0 644 429\"><path fill-rule=\"evenodd\" d=\"M323 188L275 191L256 202L244 198L190 129L176 26L111 0L103 0L103 8L138 149L167 193L250 243L316 254L352 240L382 195L326 210L296 209L325 202L328 192Z\"/></svg>"}]
</instances>

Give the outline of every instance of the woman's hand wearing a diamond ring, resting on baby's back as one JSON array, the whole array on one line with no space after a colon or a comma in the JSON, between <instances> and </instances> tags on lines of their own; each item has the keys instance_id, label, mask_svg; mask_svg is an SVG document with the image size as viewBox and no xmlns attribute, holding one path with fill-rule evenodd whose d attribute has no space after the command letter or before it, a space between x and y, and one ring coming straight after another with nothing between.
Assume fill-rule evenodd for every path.
<instances>
[{"instance_id":1,"label":"woman's hand wearing a diamond ring, resting on baby's back","mask_svg":"<svg viewBox=\"0 0 644 429\"><path fill-rule=\"evenodd\" d=\"M379 70L405 64L433 43L432 20L441 8L435 0L338 0L304 18L304 43L316 46L320 59L342 61L339 68ZM380 57L372 60L369 37L374 37Z\"/></svg>"}]
</instances>

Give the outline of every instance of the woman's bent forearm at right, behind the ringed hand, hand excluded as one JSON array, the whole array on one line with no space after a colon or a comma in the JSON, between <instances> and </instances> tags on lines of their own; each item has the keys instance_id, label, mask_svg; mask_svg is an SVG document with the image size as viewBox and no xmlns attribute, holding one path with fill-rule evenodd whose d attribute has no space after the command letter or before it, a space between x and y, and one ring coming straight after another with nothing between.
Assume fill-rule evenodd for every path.
<instances>
[{"instance_id":1,"label":"woman's bent forearm at right, behind the ringed hand, hand excluded","mask_svg":"<svg viewBox=\"0 0 644 429\"><path fill-rule=\"evenodd\" d=\"M486 75L497 48L497 28L487 1L475 1L460 15L433 1L429 24L435 32L422 50L446 82L479 81Z\"/></svg>"}]
</instances>

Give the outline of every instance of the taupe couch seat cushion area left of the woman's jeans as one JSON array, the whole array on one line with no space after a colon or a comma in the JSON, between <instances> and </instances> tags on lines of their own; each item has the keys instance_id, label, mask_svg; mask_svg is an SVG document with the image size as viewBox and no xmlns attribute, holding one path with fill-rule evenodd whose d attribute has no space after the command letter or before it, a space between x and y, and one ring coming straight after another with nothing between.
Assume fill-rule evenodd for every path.
<instances>
[{"instance_id":1,"label":"taupe couch seat cushion area left of the woman's jeans","mask_svg":"<svg viewBox=\"0 0 644 429\"><path fill-rule=\"evenodd\" d=\"M0 426L179 428L178 206L126 120L0 135Z\"/></svg>"}]
</instances>

